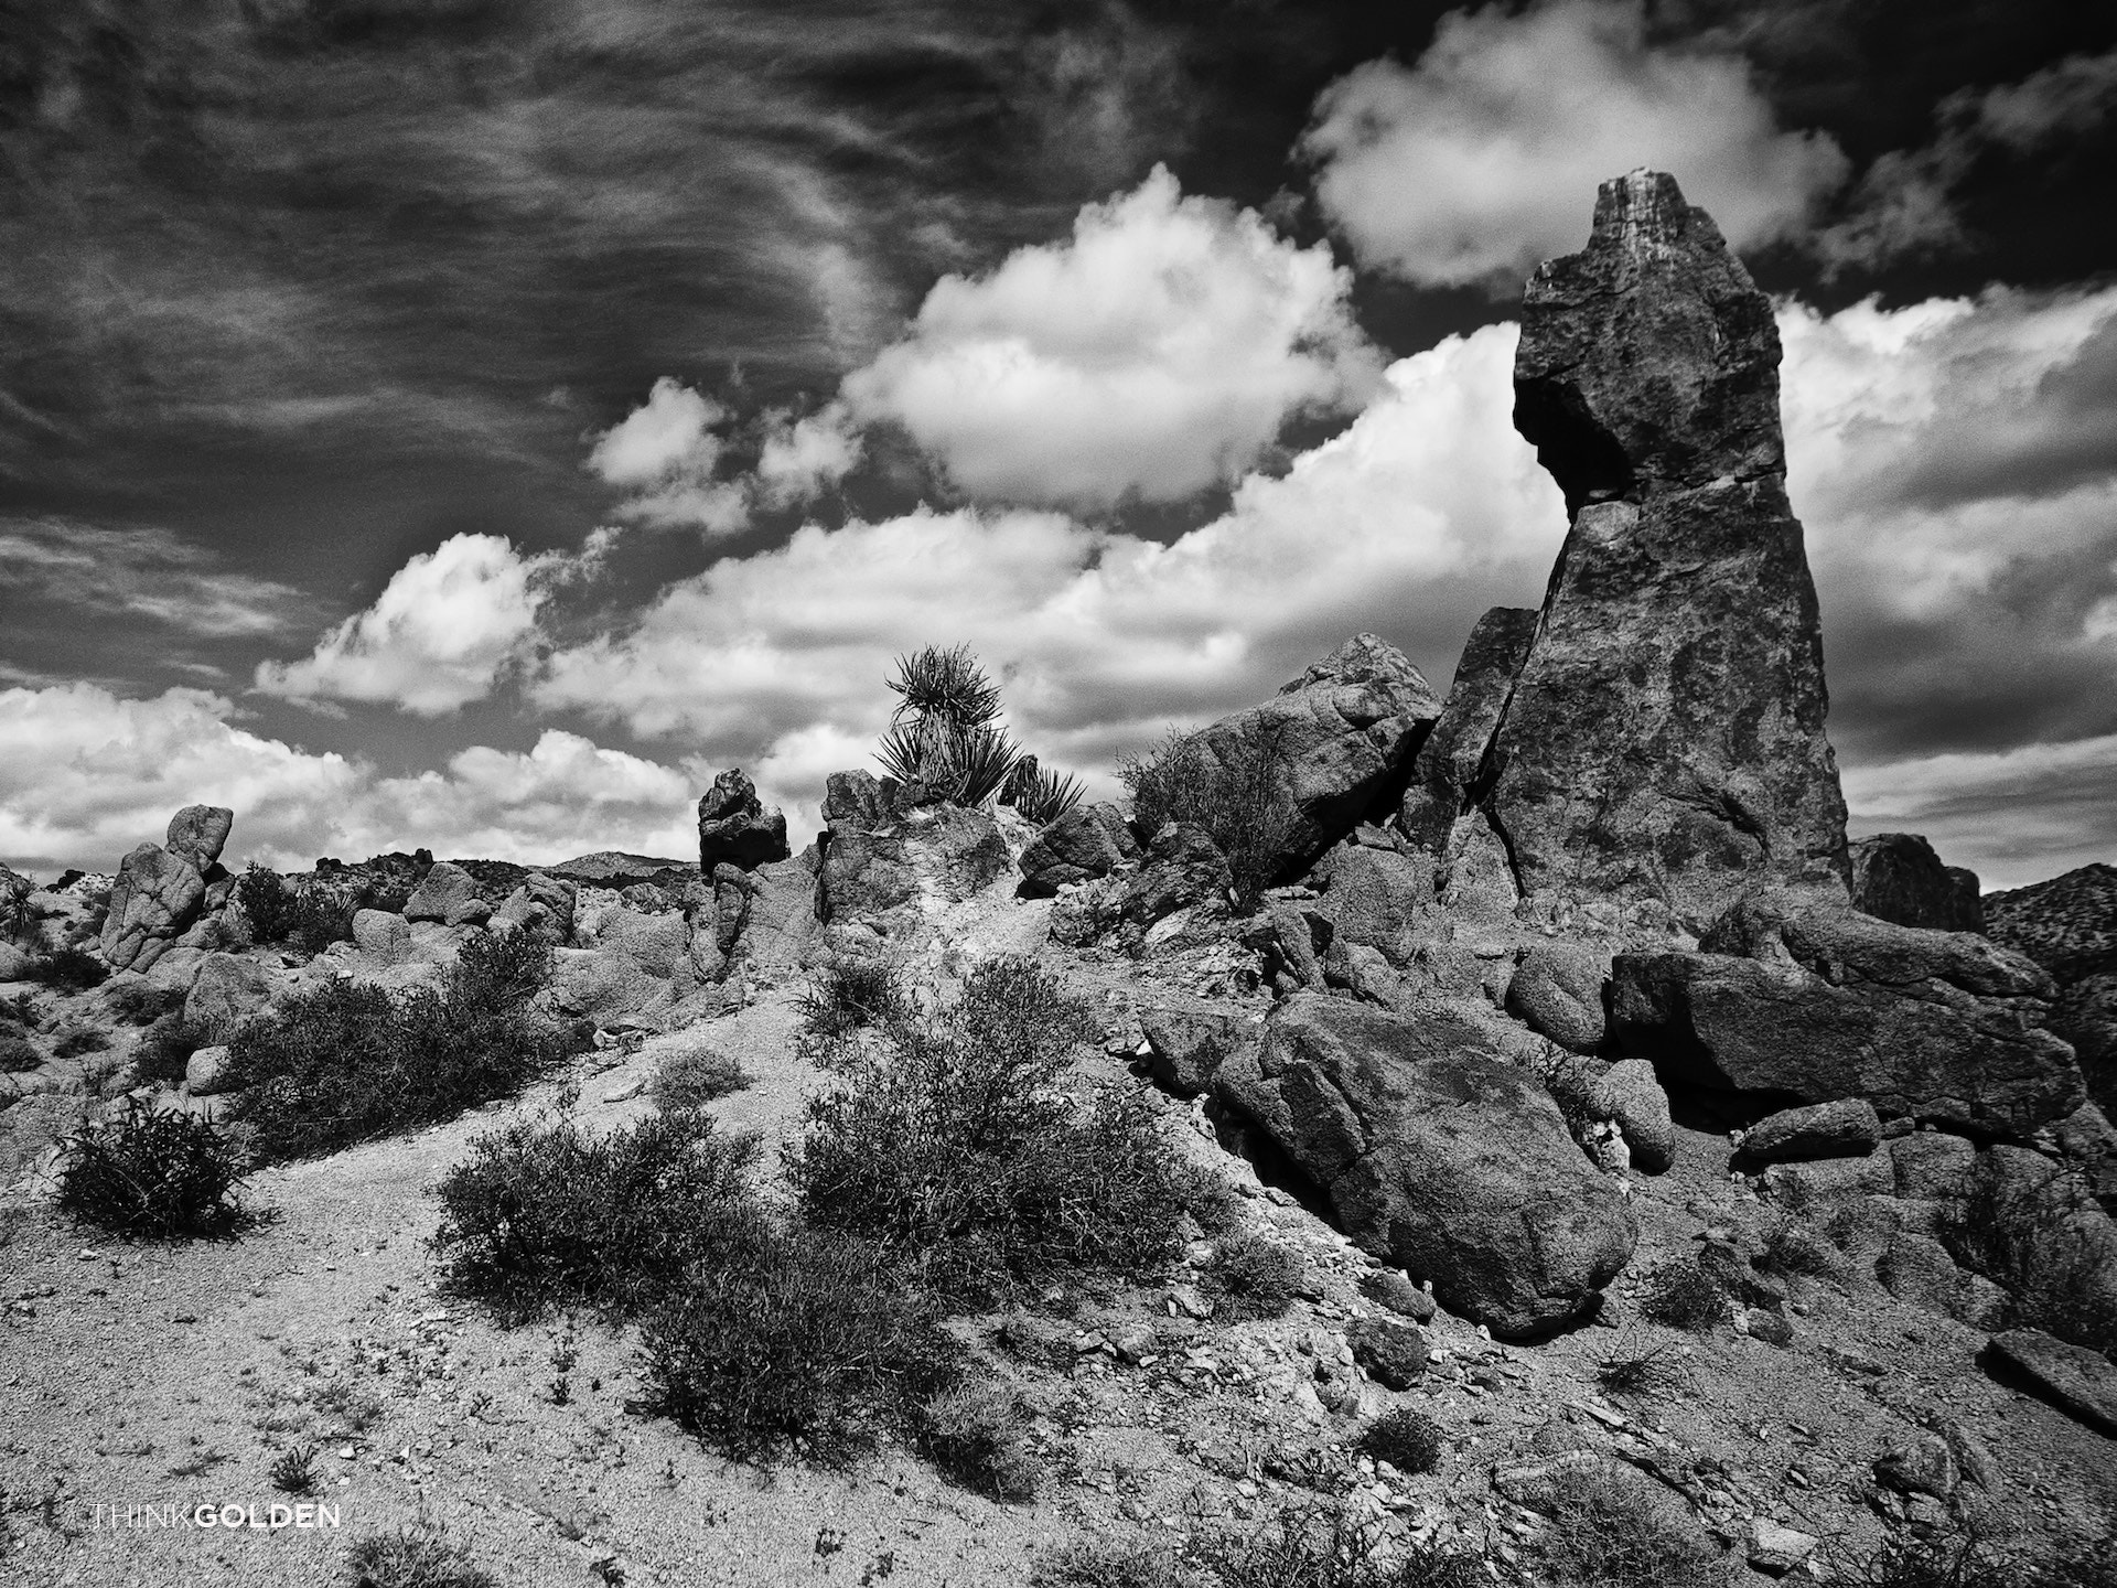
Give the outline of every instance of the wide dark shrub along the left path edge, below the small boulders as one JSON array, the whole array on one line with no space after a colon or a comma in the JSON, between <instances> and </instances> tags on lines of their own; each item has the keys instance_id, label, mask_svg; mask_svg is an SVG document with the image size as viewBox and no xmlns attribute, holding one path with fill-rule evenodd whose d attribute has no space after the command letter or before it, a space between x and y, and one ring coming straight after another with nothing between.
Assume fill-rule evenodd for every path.
<instances>
[{"instance_id":1,"label":"wide dark shrub along the left path edge, below the small boulders","mask_svg":"<svg viewBox=\"0 0 2117 1588\"><path fill-rule=\"evenodd\" d=\"M332 982L248 1021L229 1044L237 1116L258 1156L307 1158L510 1097L565 1057L529 1008L550 949L495 932L464 944L440 991Z\"/></svg>"}]
</instances>

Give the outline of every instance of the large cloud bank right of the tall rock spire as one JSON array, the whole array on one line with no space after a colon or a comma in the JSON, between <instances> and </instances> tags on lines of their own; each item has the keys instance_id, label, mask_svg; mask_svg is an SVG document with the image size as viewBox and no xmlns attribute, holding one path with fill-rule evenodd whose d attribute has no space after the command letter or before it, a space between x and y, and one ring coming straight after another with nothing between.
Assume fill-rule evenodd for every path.
<instances>
[{"instance_id":1,"label":"large cloud bank right of the tall rock spire","mask_svg":"<svg viewBox=\"0 0 2117 1588\"><path fill-rule=\"evenodd\" d=\"M1854 826L1998 885L2106 860L2117 288L1778 324Z\"/></svg>"}]
</instances>

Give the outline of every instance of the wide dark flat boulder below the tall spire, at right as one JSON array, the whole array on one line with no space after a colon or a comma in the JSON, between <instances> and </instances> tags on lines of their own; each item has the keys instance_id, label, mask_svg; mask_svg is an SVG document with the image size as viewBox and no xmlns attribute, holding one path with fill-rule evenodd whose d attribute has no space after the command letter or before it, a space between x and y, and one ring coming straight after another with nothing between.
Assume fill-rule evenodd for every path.
<instances>
[{"instance_id":1,"label":"wide dark flat boulder below the tall spire, at right","mask_svg":"<svg viewBox=\"0 0 2117 1588\"><path fill-rule=\"evenodd\" d=\"M1865 1097L1882 1118L2022 1135L2085 1097L2043 1029L2051 980L1967 932L1920 932L1827 896L1730 910L1702 953L1620 955L1617 1046L1664 1080L1810 1103Z\"/></svg>"}]
</instances>

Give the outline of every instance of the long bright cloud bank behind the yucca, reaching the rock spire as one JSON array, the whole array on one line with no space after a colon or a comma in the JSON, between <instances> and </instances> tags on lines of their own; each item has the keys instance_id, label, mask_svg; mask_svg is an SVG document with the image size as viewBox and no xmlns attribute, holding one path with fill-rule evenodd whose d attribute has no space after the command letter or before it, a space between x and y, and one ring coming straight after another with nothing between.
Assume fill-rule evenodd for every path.
<instances>
[{"instance_id":1,"label":"long bright cloud bank behind the yucca, reaching the rock spire","mask_svg":"<svg viewBox=\"0 0 2117 1588\"><path fill-rule=\"evenodd\" d=\"M824 775L868 762L891 656L921 644L967 642L1029 745L1088 773L1359 629L1446 661L1484 606L1537 599L1564 531L1509 423L1512 360L1512 326L1399 360L1353 426L1173 544L1031 508L807 525L557 648L531 699L741 762L802 830Z\"/></svg>"}]
</instances>

